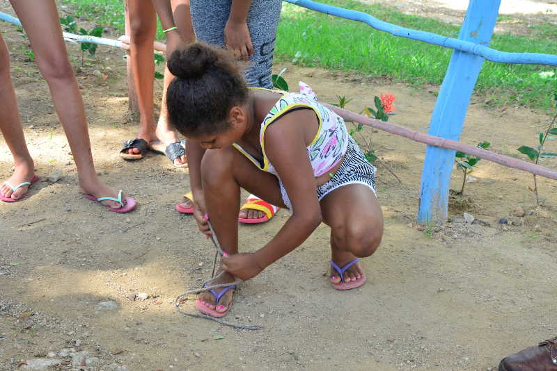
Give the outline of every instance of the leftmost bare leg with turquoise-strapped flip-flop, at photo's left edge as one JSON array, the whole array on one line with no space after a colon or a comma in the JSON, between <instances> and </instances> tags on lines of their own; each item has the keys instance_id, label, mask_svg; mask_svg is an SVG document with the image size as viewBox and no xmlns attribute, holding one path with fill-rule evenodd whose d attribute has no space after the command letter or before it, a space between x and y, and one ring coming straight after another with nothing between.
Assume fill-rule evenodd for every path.
<instances>
[{"instance_id":1,"label":"leftmost bare leg with turquoise-strapped flip-flop, at photo's left edge","mask_svg":"<svg viewBox=\"0 0 557 371\"><path fill-rule=\"evenodd\" d=\"M12 80L10 79L10 53L6 42L4 42L0 34L0 101L2 109L0 110L0 130L8 144L8 148L12 152L15 171L8 179L8 183L17 186L25 181L31 181L35 175L35 166L33 158L29 154L25 137L23 134L22 123L19 121L19 113L17 112L17 101ZM6 197L19 199L27 192L29 186L23 186L15 192L5 183L0 184L0 193Z\"/></svg>"}]
</instances>

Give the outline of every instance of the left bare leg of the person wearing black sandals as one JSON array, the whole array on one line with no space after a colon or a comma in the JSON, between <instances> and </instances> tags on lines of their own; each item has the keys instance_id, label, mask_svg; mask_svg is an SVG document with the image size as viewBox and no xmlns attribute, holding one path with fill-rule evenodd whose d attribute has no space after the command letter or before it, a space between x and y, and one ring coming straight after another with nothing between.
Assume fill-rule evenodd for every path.
<instances>
[{"instance_id":1,"label":"left bare leg of the person wearing black sandals","mask_svg":"<svg viewBox=\"0 0 557 371\"><path fill-rule=\"evenodd\" d=\"M157 140L153 113L152 84L155 78L153 46L157 31L157 15L152 2L128 0L130 12L130 58L139 106L139 131L137 138L147 143ZM139 154L139 149L128 149L129 154Z\"/></svg>"}]
</instances>

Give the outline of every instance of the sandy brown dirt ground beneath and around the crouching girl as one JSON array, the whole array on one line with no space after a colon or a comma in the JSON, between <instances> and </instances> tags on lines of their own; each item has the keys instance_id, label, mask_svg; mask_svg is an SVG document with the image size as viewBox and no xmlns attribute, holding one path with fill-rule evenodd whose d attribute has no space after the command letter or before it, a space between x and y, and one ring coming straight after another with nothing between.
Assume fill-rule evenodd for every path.
<instances>
[{"instance_id":1,"label":"sandy brown dirt ground beneath and around the crouching girl","mask_svg":"<svg viewBox=\"0 0 557 371\"><path fill-rule=\"evenodd\" d=\"M139 202L118 215L80 195L47 86L13 30L0 24L42 180L24 201L0 204L0 370L495 370L504 356L557 334L557 182L538 179L536 208L530 174L482 160L466 184L469 199L453 204L450 222L418 226L425 146L370 130L384 163L377 188L385 233L363 263L368 283L350 292L329 286L329 231L320 226L235 295L227 319L263 329L184 317L173 299L210 277L214 249L194 220L173 208L188 189L187 172L155 154L132 163L118 157L137 127L127 113L123 52L100 47L99 61L77 71L97 171ZM69 49L79 66L78 47ZM350 97L356 112L375 94L395 94L391 122L427 130L438 87L275 69L283 67L291 85L302 80L326 102ZM494 151L517 156L520 145L535 146L549 119L474 97L462 141L488 140ZM542 165L555 169L557 162ZM0 179L11 172L0 139ZM453 188L461 176L455 170ZM464 212L485 223L466 224ZM279 211L266 224L240 226L241 250L261 247L286 218ZM148 299L130 299L139 292ZM189 303L182 308L192 309Z\"/></svg>"}]
</instances>

